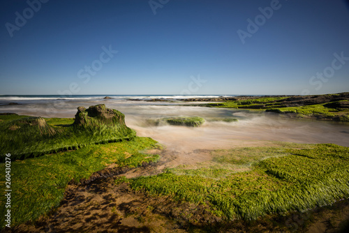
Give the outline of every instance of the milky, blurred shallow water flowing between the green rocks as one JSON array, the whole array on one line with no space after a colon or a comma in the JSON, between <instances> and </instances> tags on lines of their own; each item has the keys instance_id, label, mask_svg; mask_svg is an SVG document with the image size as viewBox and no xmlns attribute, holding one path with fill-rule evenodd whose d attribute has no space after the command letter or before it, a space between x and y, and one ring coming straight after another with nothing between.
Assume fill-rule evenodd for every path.
<instances>
[{"instance_id":1,"label":"milky, blurred shallow water flowing between the green rocks","mask_svg":"<svg viewBox=\"0 0 349 233\"><path fill-rule=\"evenodd\" d=\"M26 100L22 105L2 105L0 112L15 112L40 117L74 117L77 107L105 103L126 116L126 124L139 136L152 137L168 149L226 148L256 140L300 143L334 143L349 146L349 124L329 121L288 119L274 113L211 107L181 106L181 103L154 103L128 100ZM146 119L175 116L234 117L237 122L206 121L199 128L184 126L150 126Z\"/></svg>"}]
</instances>

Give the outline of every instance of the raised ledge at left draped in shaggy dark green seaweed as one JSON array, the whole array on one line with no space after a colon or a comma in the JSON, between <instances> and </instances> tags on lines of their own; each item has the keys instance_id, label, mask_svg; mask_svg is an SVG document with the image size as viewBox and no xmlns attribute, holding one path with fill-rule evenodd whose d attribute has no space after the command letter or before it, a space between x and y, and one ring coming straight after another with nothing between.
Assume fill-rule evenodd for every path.
<instances>
[{"instance_id":1,"label":"raised ledge at left draped in shaggy dark green seaweed","mask_svg":"<svg viewBox=\"0 0 349 233\"><path fill-rule=\"evenodd\" d=\"M116 114L121 113L117 111ZM123 121L124 114L120 116ZM73 119L43 119L17 115L1 115L0 119L1 162L5 153L11 153L13 160L24 159L77 149L89 144L131 140L135 137L135 131L119 121L106 124L100 119L91 118L87 124L77 126L73 124Z\"/></svg>"}]
</instances>

